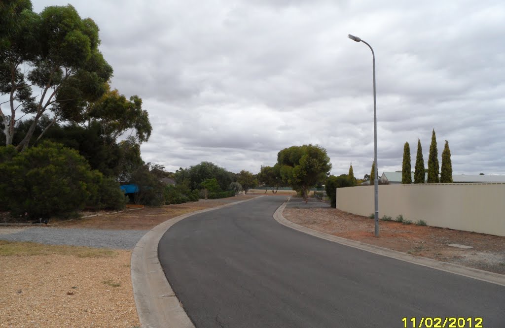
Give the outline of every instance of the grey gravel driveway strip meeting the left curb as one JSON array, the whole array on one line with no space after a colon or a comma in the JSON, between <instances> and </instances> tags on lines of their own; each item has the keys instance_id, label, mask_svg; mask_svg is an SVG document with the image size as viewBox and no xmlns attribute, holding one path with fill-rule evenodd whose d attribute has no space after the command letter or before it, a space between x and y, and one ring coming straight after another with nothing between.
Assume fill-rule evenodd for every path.
<instances>
[{"instance_id":1,"label":"grey gravel driveway strip meeting the left curb","mask_svg":"<svg viewBox=\"0 0 505 328\"><path fill-rule=\"evenodd\" d=\"M100 230L84 228L3 228L0 240L29 241L51 245L133 249L147 230Z\"/></svg>"}]
</instances>

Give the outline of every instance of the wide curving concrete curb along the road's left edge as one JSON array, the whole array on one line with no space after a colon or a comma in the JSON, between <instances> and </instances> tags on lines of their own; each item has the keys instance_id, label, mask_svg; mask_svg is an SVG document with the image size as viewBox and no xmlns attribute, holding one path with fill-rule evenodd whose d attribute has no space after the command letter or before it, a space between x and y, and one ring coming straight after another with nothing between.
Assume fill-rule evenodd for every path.
<instances>
[{"instance_id":1,"label":"wide curving concrete curb along the road's left edge","mask_svg":"<svg viewBox=\"0 0 505 328\"><path fill-rule=\"evenodd\" d=\"M154 227L138 241L131 254L131 282L143 328L194 327L167 281L158 258L158 244L170 227L186 217L259 197L179 215Z\"/></svg>"}]
</instances>

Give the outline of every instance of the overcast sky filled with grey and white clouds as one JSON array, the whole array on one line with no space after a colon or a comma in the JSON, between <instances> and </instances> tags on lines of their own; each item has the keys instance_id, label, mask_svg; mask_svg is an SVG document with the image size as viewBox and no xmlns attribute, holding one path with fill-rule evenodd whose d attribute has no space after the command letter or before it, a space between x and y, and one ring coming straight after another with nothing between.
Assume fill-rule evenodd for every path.
<instances>
[{"instance_id":1,"label":"overcast sky filled with grey and white clouds","mask_svg":"<svg viewBox=\"0 0 505 328\"><path fill-rule=\"evenodd\" d=\"M69 0L33 1L40 12ZM145 161L257 173L292 145L326 148L332 174L370 173L376 53L379 174L403 144L427 163L435 129L455 174L505 174L505 3L73 0L100 28L112 86L139 95Z\"/></svg>"}]
</instances>

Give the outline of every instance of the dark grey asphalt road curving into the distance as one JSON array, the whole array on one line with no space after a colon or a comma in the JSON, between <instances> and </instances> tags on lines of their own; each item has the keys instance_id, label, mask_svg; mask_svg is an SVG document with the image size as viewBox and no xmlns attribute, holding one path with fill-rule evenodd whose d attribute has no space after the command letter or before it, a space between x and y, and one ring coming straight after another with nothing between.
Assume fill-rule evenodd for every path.
<instances>
[{"instance_id":1,"label":"dark grey asphalt road curving into the distance","mask_svg":"<svg viewBox=\"0 0 505 328\"><path fill-rule=\"evenodd\" d=\"M505 287L292 230L272 217L284 199L194 215L163 236L161 264L196 327L505 327Z\"/></svg>"}]
</instances>

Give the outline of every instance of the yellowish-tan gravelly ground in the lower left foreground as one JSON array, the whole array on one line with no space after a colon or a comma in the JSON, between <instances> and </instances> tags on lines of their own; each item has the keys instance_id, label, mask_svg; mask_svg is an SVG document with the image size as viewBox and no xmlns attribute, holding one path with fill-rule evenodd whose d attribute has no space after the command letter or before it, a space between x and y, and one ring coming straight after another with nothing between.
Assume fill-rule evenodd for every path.
<instances>
[{"instance_id":1,"label":"yellowish-tan gravelly ground in the lower left foreground","mask_svg":"<svg viewBox=\"0 0 505 328\"><path fill-rule=\"evenodd\" d=\"M0 256L0 327L140 326L131 252L114 253Z\"/></svg>"}]
</instances>

